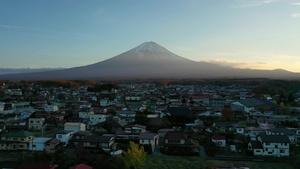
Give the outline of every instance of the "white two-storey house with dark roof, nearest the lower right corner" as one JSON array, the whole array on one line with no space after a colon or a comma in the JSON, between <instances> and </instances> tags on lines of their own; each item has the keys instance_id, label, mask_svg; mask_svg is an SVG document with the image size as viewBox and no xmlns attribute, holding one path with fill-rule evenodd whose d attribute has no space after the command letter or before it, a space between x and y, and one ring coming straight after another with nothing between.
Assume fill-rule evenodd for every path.
<instances>
[{"instance_id":1,"label":"white two-storey house with dark roof, nearest the lower right corner","mask_svg":"<svg viewBox=\"0 0 300 169\"><path fill-rule=\"evenodd\" d=\"M289 156L290 140L286 135L260 135L248 144L248 149L257 156Z\"/></svg>"}]
</instances>

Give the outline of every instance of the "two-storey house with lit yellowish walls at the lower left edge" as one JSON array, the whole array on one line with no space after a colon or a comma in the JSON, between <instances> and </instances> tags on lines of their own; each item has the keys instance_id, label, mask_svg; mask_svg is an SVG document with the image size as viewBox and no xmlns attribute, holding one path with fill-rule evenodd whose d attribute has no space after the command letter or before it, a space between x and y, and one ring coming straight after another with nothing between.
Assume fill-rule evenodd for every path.
<instances>
[{"instance_id":1,"label":"two-storey house with lit yellowish walls at the lower left edge","mask_svg":"<svg viewBox=\"0 0 300 169\"><path fill-rule=\"evenodd\" d=\"M28 143L34 139L34 133L29 131L6 132L1 135L1 150L27 150Z\"/></svg>"}]
</instances>

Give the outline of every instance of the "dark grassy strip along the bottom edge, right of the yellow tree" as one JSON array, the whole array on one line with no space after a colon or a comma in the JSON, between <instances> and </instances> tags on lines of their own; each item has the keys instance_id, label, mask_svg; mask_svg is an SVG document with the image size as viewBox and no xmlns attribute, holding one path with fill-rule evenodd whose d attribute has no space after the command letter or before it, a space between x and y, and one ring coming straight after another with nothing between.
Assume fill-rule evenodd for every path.
<instances>
[{"instance_id":1,"label":"dark grassy strip along the bottom edge, right of the yellow tree","mask_svg":"<svg viewBox=\"0 0 300 169\"><path fill-rule=\"evenodd\" d=\"M203 165L212 167L249 167L250 169L296 169L290 163L252 162L252 161L220 161L203 160L200 157L158 157L148 156L144 169L200 169Z\"/></svg>"}]
</instances>

